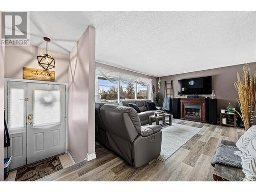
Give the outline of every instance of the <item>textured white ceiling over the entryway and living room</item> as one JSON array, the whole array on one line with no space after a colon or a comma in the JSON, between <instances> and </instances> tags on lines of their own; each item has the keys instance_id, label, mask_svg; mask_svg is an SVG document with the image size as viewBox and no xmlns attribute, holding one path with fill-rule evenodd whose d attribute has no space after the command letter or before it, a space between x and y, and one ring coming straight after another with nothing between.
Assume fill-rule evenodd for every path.
<instances>
[{"instance_id":1,"label":"textured white ceiling over the entryway and living room","mask_svg":"<svg viewBox=\"0 0 256 192\"><path fill-rule=\"evenodd\" d=\"M96 61L166 76L256 61L256 12L30 12L30 44L68 53L96 28Z\"/></svg>"}]
</instances>

